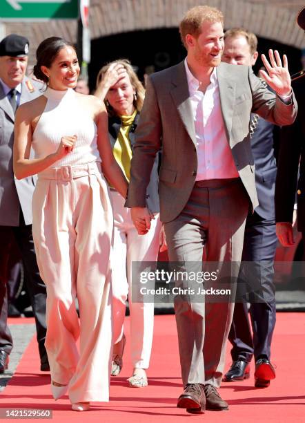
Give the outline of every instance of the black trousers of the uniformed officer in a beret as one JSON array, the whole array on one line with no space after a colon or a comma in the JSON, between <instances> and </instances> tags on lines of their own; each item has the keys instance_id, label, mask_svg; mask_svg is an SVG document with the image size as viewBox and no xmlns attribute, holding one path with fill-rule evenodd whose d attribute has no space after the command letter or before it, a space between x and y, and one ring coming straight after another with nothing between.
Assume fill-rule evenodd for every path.
<instances>
[{"instance_id":1,"label":"black trousers of the uniformed officer in a beret","mask_svg":"<svg viewBox=\"0 0 305 423\"><path fill-rule=\"evenodd\" d=\"M14 239L21 252L24 269L26 272L26 284L32 309L35 317L39 356L41 362L48 361L44 341L46 339L46 285L39 276L36 261L34 242L32 238L32 225L26 225L20 213L19 226L0 226L0 350L10 354L12 350L12 335L8 328L8 258L10 245Z\"/></svg>"}]
</instances>

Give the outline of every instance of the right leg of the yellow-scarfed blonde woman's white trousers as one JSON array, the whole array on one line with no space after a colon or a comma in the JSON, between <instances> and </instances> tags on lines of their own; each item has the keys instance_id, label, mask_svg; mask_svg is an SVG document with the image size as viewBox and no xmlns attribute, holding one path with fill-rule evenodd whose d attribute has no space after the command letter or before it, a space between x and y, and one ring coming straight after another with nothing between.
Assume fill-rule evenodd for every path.
<instances>
[{"instance_id":1,"label":"right leg of the yellow-scarfed blonde woman's white trousers","mask_svg":"<svg viewBox=\"0 0 305 423\"><path fill-rule=\"evenodd\" d=\"M148 233L139 235L132 224L129 210L128 213L130 229L127 235L127 272L131 361L134 368L148 368L153 344L155 304L132 301L132 262L157 262L161 222L158 214L151 220Z\"/></svg>"}]
</instances>

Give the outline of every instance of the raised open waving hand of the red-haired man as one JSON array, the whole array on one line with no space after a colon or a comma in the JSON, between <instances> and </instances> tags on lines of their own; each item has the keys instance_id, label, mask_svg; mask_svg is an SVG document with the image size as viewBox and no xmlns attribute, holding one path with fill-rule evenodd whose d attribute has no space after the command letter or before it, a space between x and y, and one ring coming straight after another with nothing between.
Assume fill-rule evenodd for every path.
<instances>
[{"instance_id":1,"label":"raised open waving hand of the red-haired man","mask_svg":"<svg viewBox=\"0 0 305 423\"><path fill-rule=\"evenodd\" d=\"M277 50L269 50L270 63L266 59L265 55L262 55L262 61L266 68L266 71L259 71L261 77L265 79L266 83L273 88L277 95L291 95L291 76L288 72L288 60L287 56L283 55L282 59L279 56Z\"/></svg>"}]
</instances>

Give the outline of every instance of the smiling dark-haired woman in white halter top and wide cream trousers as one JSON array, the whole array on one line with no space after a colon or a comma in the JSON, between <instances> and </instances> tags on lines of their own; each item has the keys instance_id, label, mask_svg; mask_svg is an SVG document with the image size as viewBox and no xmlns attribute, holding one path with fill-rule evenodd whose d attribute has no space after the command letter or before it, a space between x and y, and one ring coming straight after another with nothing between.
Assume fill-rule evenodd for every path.
<instances>
[{"instance_id":1,"label":"smiling dark-haired woman in white halter top and wide cream trousers","mask_svg":"<svg viewBox=\"0 0 305 423\"><path fill-rule=\"evenodd\" d=\"M79 76L72 44L42 41L34 74L47 89L17 111L14 173L38 173L32 230L47 287L52 394L57 400L68 391L72 409L86 411L109 396L113 218L103 173L124 197L127 181L112 155L103 102L72 89Z\"/></svg>"}]
</instances>

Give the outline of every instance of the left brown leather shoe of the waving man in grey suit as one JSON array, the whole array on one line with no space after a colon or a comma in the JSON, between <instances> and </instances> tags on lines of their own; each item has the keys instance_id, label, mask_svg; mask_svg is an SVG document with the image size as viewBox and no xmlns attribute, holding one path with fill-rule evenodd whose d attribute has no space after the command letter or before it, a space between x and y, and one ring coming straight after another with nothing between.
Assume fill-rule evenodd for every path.
<instances>
[{"instance_id":1,"label":"left brown leather shoe of the waving man in grey suit","mask_svg":"<svg viewBox=\"0 0 305 423\"><path fill-rule=\"evenodd\" d=\"M184 388L184 393L178 398L177 407L186 408L186 411L192 414L204 413L206 409L204 385L187 384Z\"/></svg>"}]
</instances>

